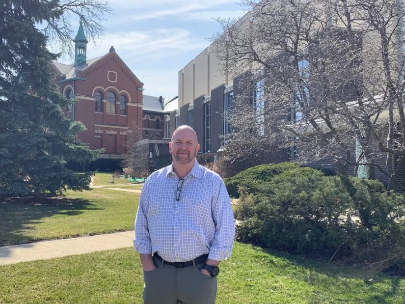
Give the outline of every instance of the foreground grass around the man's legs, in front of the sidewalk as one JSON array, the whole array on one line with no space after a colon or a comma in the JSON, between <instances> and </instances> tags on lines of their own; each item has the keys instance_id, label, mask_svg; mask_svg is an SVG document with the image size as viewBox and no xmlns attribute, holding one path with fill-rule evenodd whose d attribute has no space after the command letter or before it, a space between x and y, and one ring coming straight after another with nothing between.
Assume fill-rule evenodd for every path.
<instances>
[{"instance_id":1,"label":"foreground grass around the man's legs, in front of the sidewalk","mask_svg":"<svg viewBox=\"0 0 405 304\"><path fill-rule=\"evenodd\" d=\"M405 279L235 244L217 304L404 304ZM0 266L0 304L142 303L131 248Z\"/></svg>"}]
</instances>

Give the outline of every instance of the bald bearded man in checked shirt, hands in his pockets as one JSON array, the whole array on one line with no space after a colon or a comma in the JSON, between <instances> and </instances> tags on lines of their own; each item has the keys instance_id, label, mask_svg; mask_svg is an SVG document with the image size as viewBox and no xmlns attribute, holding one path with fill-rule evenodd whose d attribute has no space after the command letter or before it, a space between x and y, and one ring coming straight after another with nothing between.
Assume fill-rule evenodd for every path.
<instances>
[{"instance_id":1,"label":"bald bearded man in checked shirt, hands in his pockets","mask_svg":"<svg viewBox=\"0 0 405 304\"><path fill-rule=\"evenodd\" d=\"M235 224L224 182L195 159L199 148L192 128L177 128L172 164L150 175L140 194L134 248L144 304L215 303L218 264L231 256Z\"/></svg>"}]
</instances>

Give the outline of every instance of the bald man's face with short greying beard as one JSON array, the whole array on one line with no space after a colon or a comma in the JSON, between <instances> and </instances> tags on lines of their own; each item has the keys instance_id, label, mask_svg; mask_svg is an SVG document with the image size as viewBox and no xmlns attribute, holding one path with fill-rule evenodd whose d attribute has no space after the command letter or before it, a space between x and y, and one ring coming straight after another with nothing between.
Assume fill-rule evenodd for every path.
<instances>
[{"instance_id":1,"label":"bald man's face with short greying beard","mask_svg":"<svg viewBox=\"0 0 405 304\"><path fill-rule=\"evenodd\" d=\"M200 149L195 133L190 129L176 130L169 143L173 162L188 165Z\"/></svg>"}]
</instances>

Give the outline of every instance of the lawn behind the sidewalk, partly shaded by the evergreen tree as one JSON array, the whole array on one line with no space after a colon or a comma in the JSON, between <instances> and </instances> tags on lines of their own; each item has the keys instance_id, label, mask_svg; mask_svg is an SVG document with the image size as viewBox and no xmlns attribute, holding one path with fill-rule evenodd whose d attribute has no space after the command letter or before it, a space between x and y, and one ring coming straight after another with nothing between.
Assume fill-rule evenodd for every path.
<instances>
[{"instance_id":1,"label":"lawn behind the sidewalk, partly shaded by the evergreen tree","mask_svg":"<svg viewBox=\"0 0 405 304\"><path fill-rule=\"evenodd\" d=\"M108 189L0 201L0 246L134 229L139 194Z\"/></svg>"}]
</instances>

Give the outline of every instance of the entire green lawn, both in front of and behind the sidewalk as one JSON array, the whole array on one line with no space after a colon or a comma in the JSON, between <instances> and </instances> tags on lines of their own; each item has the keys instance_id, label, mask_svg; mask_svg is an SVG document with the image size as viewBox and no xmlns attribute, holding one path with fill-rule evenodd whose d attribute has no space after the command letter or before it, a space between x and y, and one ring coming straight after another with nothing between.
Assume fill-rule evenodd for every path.
<instances>
[{"instance_id":1,"label":"entire green lawn, both in front of and behind the sidewalk","mask_svg":"<svg viewBox=\"0 0 405 304\"><path fill-rule=\"evenodd\" d=\"M133 186L139 187L127 187ZM137 193L97 188L58 198L0 201L0 246L131 230L138 199ZM405 278L240 243L220 267L217 304L405 303ZM142 287L132 248L0 266L0 304L142 303Z\"/></svg>"}]
</instances>

